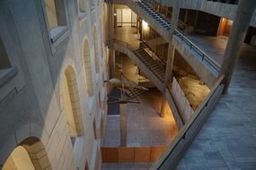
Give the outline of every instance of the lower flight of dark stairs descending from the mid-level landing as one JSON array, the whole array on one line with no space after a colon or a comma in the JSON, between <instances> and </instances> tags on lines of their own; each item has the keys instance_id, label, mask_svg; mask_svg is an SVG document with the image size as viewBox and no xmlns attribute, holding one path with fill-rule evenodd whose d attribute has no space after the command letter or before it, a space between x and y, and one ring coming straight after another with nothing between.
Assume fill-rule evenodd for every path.
<instances>
[{"instance_id":1,"label":"lower flight of dark stairs descending from the mid-level landing","mask_svg":"<svg viewBox=\"0 0 256 170\"><path fill-rule=\"evenodd\" d=\"M165 70L164 65L160 64L156 59L149 55L146 50L142 47L133 51L137 58L146 65L146 67L154 73L159 81L164 82Z\"/></svg>"}]
</instances>

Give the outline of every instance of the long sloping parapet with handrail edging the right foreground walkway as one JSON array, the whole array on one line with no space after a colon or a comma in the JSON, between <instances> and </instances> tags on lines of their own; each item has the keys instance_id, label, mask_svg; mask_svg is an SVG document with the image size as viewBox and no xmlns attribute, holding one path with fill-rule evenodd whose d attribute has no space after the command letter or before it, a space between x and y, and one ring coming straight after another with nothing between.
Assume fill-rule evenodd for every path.
<instances>
[{"instance_id":1,"label":"long sloping parapet with handrail edging the right foreground walkway","mask_svg":"<svg viewBox=\"0 0 256 170\"><path fill-rule=\"evenodd\" d=\"M211 111L211 108L216 104L217 99L220 97L223 90L222 81L224 77L224 75L221 75L218 81L216 81L214 88L211 89L207 98L198 107L189 122L182 127L169 149L154 163L153 166L151 166L151 169L173 169L176 164L178 164L183 154L182 152L186 150L197 132L199 132L199 128L202 126L204 120L206 120L207 115ZM168 88L168 90L171 93L171 89Z\"/></svg>"}]
</instances>

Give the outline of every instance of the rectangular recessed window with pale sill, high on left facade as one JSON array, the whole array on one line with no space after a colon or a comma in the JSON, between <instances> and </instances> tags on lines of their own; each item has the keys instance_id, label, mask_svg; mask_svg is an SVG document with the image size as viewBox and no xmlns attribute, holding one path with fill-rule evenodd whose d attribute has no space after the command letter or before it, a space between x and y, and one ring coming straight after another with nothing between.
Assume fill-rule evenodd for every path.
<instances>
[{"instance_id":1,"label":"rectangular recessed window with pale sill, high on left facade","mask_svg":"<svg viewBox=\"0 0 256 170\"><path fill-rule=\"evenodd\" d=\"M48 19L50 38L55 42L66 32L66 13L64 0L44 0L45 12Z\"/></svg>"}]
</instances>

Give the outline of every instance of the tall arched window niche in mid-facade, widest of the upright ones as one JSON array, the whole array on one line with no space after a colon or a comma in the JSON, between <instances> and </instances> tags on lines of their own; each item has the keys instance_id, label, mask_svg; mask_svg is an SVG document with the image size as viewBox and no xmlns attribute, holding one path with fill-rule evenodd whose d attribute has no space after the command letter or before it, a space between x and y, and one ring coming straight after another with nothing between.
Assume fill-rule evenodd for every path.
<instances>
[{"instance_id":1,"label":"tall arched window niche in mid-facade, widest of the upright ones","mask_svg":"<svg viewBox=\"0 0 256 170\"><path fill-rule=\"evenodd\" d=\"M84 134L83 119L79 103L79 94L76 82L75 71L72 66L67 66L65 76L62 80L62 95L64 103L64 112L69 134L75 142L75 137Z\"/></svg>"}]
</instances>

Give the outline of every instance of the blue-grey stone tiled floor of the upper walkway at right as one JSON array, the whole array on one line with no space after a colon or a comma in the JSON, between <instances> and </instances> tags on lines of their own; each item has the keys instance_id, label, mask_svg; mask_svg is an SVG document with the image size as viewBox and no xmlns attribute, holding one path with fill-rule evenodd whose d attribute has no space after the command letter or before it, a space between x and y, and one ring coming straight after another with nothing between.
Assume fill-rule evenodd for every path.
<instances>
[{"instance_id":1,"label":"blue-grey stone tiled floor of the upper walkway at right","mask_svg":"<svg viewBox=\"0 0 256 170\"><path fill-rule=\"evenodd\" d=\"M205 46L204 41L203 50L220 61L226 40L216 38L214 47L211 38ZM216 104L177 170L256 169L255 87L256 47L244 44L228 93Z\"/></svg>"}]
</instances>

